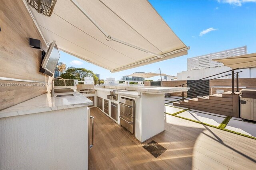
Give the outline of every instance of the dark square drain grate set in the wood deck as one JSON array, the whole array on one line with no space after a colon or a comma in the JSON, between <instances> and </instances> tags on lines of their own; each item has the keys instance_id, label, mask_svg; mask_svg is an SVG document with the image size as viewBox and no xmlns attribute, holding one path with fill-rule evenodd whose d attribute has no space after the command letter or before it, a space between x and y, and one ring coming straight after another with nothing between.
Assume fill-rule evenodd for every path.
<instances>
[{"instance_id":1,"label":"dark square drain grate set in the wood deck","mask_svg":"<svg viewBox=\"0 0 256 170\"><path fill-rule=\"evenodd\" d=\"M155 141L151 141L150 143L144 145L143 148L148 150L148 152L150 152L150 154L152 154L155 158L157 158L162 153L164 153L164 151L166 151L164 147L162 147Z\"/></svg>"}]
</instances>

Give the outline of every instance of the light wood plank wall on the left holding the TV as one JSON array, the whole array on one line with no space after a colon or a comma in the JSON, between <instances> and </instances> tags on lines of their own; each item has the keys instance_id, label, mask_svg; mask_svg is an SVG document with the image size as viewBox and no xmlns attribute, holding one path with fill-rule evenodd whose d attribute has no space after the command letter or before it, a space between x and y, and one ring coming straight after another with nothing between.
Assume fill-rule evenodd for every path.
<instances>
[{"instance_id":1,"label":"light wood plank wall on the left holding the TV","mask_svg":"<svg viewBox=\"0 0 256 170\"><path fill-rule=\"evenodd\" d=\"M40 39L47 51L34 21L21 0L0 1L0 76L50 82L52 77L39 72L40 49L29 46L29 38ZM26 83L0 80L0 109L14 106L46 93L46 86L4 86L5 83Z\"/></svg>"}]
</instances>

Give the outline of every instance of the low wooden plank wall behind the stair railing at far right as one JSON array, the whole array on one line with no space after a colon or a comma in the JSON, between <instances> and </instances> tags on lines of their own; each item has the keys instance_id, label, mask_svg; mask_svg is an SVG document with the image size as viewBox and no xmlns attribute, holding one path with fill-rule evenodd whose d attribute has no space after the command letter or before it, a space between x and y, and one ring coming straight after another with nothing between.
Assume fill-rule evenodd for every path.
<instances>
[{"instance_id":1,"label":"low wooden plank wall behind the stair railing at far right","mask_svg":"<svg viewBox=\"0 0 256 170\"><path fill-rule=\"evenodd\" d=\"M235 75L236 76L236 75ZM212 86L232 86L232 79L215 79L210 80L210 87ZM246 88L256 89L256 78L238 78L238 87L245 86ZM216 94L216 89L224 90L224 92L231 91L232 88L210 88L210 94ZM241 88L239 88L241 90ZM236 91L236 78L235 78L235 91Z\"/></svg>"}]
</instances>

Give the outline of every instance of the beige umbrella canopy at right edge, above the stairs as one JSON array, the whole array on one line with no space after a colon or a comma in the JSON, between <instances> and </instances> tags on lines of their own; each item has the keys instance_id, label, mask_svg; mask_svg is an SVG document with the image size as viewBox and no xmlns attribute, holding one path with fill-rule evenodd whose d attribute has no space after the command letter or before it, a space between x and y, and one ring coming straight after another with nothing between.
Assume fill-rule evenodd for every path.
<instances>
[{"instance_id":1,"label":"beige umbrella canopy at right edge, above the stairs","mask_svg":"<svg viewBox=\"0 0 256 170\"><path fill-rule=\"evenodd\" d=\"M213 61L223 63L224 66L228 66L232 69L252 68L256 67L256 53L240 55L236 57L229 57L224 59L214 59Z\"/></svg>"}]
</instances>

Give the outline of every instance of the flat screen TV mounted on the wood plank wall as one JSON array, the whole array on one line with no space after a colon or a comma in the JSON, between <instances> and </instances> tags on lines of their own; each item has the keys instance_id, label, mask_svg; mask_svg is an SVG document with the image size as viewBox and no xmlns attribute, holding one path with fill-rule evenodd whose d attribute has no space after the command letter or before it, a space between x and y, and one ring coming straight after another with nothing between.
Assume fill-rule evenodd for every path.
<instances>
[{"instance_id":1,"label":"flat screen TV mounted on the wood plank wall","mask_svg":"<svg viewBox=\"0 0 256 170\"><path fill-rule=\"evenodd\" d=\"M53 41L42 59L42 68L40 68L40 72L47 74L49 76L53 76L54 70L58 64L59 59L60 52L56 45L56 41Z\"/></svg>"}]
</instances>

